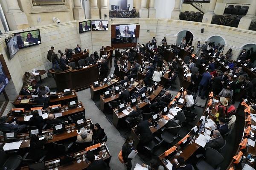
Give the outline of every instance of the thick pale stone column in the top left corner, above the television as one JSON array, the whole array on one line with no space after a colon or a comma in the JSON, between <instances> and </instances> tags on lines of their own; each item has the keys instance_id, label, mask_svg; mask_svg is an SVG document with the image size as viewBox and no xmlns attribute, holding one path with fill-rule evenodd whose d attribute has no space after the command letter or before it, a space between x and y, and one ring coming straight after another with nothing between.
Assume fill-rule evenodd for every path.
<instances>
[{"instance_id":1,"label":"thick pale stone column in the top left corner, above the television","mask_svg":"<svg viewBox=\"0 0 256 170\"><path fill-rule=\"evenodd\" d=\"M26 14L20 11L17 0L6 0L8 11L6 12L6 20L10 30L29 28L29 22Z\"/></svg>"}]
</instances>

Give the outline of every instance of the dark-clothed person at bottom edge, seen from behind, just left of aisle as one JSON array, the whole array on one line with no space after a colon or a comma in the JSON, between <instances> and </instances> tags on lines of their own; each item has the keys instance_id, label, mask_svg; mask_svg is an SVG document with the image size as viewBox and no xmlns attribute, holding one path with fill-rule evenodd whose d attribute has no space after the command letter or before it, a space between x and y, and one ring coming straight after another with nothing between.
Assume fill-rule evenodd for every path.
<instances>
[{"instance_id":1,"label":"dark-clothed person at bottom edge, seen from behind, just left of aisle","mask_svg":"<svg viewBox=\"0 0 256 170\"><path fill-rule=\"evenodd\" d=\"M103 159L95 160L93 152L87 152L87 159L89 160L89 166L86 168L87 170L109 170L108 165Z\"/></svg>"}]
</instances>

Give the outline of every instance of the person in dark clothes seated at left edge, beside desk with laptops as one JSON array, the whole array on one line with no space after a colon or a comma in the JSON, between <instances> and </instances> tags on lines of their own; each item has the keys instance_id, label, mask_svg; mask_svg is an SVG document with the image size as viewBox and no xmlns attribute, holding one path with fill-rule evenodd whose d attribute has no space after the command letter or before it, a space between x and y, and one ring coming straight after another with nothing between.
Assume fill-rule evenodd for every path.
<instances>
[{"instance_id":1,"label":"person in dark clothes seated at left edge, beside desk with laptops","mask_svg":"<svg viewBox=\"0 0 256 170\"><path fill-rule=\"evenodd\" d=\"M7 133L11 133L11 132L17 132L19 130L22 130L26 127L25 124L23 125L18 125L16 123L16 121L12 122L12 123L8 123L7 122L7 117L6 116L2 116L0 118L0 130L1 131L5 131Z\"/></svg>"}]
</instances>

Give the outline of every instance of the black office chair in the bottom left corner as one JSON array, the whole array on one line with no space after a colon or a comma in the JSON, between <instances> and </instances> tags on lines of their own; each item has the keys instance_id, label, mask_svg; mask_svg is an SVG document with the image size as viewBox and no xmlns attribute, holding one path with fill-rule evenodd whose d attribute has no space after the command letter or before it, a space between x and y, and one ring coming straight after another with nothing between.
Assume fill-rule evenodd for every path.
<instances>
[{"instance_id":1,"label":"black office chair in the bottom left corner","mask_svg":"<svg viewBox=\"0 0 256 170\"><path fill-rule=\"evenodd\" d=\"M0 169L16 170L20 166L20 155L7 155L3 148L0 148Z\"/></svg>"}]
</instances>

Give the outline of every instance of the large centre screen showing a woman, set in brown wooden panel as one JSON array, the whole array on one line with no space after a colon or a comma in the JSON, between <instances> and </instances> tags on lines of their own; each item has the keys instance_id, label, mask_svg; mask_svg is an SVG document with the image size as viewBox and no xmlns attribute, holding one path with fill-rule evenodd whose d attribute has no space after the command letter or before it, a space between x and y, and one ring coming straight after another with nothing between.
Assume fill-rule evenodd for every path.
<instances>
[{"instance_id":1,"label":"large centre screen showing a woman, set in brown wooden panel","mask_svg":"<svg viewBox=\"0 0 256 170\"><path fill-rule=\"evenodd\" d=\"M116 25L116 37L136 37L136 25Z\"/></svg>"}]
</instances>

